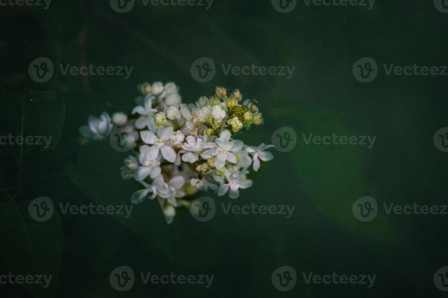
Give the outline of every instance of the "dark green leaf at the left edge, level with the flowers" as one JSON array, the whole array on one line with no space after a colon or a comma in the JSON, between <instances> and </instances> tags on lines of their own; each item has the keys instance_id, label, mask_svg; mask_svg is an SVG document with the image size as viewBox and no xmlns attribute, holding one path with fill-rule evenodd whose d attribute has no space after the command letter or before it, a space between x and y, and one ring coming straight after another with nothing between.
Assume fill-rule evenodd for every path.
<instances>
[{"instance_id":1,"label":"dark green leaf at the left edge, level with the flowers","mask_svg":"<svg viewBox=\"0 0 448 298\"><path fill-rule=\"evenodd\" d=\"M35 146L41 151L55 149L64 117L64 97L56 92L10 92L6 96L0 92L0 136L8 138L7 145L2 145L0 152L22 155ZM17 139L17 136L22 136L22 139ZM0 141L5 142L4 139Z\"/></svg>"}]
</instances>

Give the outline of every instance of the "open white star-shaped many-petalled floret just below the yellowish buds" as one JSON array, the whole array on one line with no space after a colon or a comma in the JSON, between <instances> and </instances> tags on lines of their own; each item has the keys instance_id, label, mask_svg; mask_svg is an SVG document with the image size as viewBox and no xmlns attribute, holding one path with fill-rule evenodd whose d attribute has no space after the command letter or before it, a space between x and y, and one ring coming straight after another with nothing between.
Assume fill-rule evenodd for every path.
<instances>
[{"instance_id":1,"label":"open white star-shaped many-petalled floret just below the yellowish buds","mask_svg":"<svg viewBox=\"0 0 448 298\"><path fill-rule=\"evenodd\" d=\"M236 164L237 158L231 152L238 151L243 147L243 142L240 140L230 141L230 131L224 130L220 137L215 140L215 143L207 143L205 146L212 149L207 150L201 154L202 158L209 159L213 156L215 158L215 167L220 170L224 167L225 161Z\"/></svg>"}]
</instances>

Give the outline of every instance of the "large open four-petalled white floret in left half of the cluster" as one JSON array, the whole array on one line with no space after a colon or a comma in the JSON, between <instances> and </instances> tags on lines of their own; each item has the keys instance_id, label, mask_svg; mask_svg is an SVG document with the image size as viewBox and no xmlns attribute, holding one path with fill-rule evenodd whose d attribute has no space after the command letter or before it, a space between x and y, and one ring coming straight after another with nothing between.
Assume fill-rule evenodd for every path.
<instances>
[{"instance_id":1,"label":"large open four-petalled white floret in left half of the cluster","mask_svg":"<svg viewBox=\"0 0 448 298\"><path fill-rule=\"evenodd\" d=\"M168 144L171 143L172 126L165 127L163 130L157 131L157 136L150 130L140 132L142 141L146 144L153 145L149 147L147 152L148 159L156 159L159 152L162 152L164 159L173 163L176 160L176 152Z\"/></svg>"}]
</instances>

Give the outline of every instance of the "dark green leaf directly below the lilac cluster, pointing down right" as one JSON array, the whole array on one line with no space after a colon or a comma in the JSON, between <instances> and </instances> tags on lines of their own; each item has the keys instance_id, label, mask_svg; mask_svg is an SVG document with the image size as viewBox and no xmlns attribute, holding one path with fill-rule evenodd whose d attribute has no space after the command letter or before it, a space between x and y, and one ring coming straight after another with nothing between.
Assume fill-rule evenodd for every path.
<instances>
[{"instance_id":1,"label":"dark green leaf directly below the lilac cluster, pointing down right","mask_svg":"<svg viewBox=\"0 0 448 298\"><path fill-rule=\"evenodd\" d=\"M76 167L67 164L65 170L95 204L132 206L128 218L119 214L112 216L150 240L171 259L171 236L159 202L150 199L138 205L130 202L131 195L140 188L134 180L121 179L120 168L127 155L129 152L117 152L109 143L91 142L81 147Z\"/></svg>"}]
</instances>

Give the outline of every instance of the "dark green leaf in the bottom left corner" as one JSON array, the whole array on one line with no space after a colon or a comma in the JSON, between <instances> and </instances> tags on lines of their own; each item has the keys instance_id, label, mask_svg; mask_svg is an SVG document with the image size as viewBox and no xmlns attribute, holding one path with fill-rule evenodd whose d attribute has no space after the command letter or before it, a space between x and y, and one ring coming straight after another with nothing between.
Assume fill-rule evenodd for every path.
<instances>
[{"instance_id":1,"label":"dark green leaf in the bottom left corner","mask_svg":"<svg viewBox=\"0 0 448 298\"><path fill-rule=\"evenodd\" d=\"M45 222L31 218L28 207L23 203L0 204L0 255L15 276L52 275L48 286L27 284L23 286L35 298L54 297L62 258L62 225L59 214L54 212Z\"/></svg>"}]
</instances>

